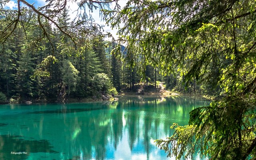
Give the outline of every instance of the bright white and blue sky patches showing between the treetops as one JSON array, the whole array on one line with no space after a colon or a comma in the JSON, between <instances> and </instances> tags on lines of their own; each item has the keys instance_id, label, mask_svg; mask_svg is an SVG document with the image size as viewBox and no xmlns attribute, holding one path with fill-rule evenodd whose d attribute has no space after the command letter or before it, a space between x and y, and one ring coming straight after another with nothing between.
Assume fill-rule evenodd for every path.
<instances>
[{"instance_id":1,"label":"bright white and blue sky patches showing between the treetops","mask_svg":"<svg viewBox=\"0 0 256 160\"><path fill-rule=\"evenodd\" d=\"M40 6L44 6L46 4L45 0L26 0L28 3L30 4L34 4L34 6L36 8L40 7ZM79 0L78 0L79 1ZM120 0L118 2L118 4L121 6L121 8L123 8L126 4L127 0ZM25 6L24 4L20 4L21 6ZM114 5L114 4L113 4ZM70 14L70 18L71 19L74 19L76 17L76 13L74 12L75 10L77 10L78 8L78 5L76 3L69 3L67 4L67 6L69 6L71 12L69 13ZM110 6L111 8L112 6ZM15 10L17 9L17 0L10 0L10 2L8 2L5 7L6 9L11 9L11 10ZM112 36L117 39L118 36L116 35L116 32L117 32L117 29L111 29L110 26L107 26L106 25L106 22L103 21L101 18L100 18L100 14L99 14L99 10L94 10L92 13L92 17L94 18L95 20L95 23L97 24L100 24L100 25L103 25L104 26L104 34L106 34L106 32L110 32L112 34ZM105 40L111 40L111 38L105 38Z\"/></svg>"}]
</instances>

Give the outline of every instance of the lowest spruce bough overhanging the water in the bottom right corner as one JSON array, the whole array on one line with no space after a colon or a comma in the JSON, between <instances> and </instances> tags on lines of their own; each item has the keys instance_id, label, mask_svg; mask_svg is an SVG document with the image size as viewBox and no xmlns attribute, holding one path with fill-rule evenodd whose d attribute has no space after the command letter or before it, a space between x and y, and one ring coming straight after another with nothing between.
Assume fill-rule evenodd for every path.
<instances>
[{"instance_id":1,"label":"lowest spruce bough overhanging the water in the bottom right corner","mask_svg":"<svg viewBox=\"0 0 256 160\"><path fill-rule=\"evenodd\" d=\"M255 94L251 95L245 102L244 97L230 96L208 107L197 108L190 112L189 125L174 124L171 126L175 128L174 134L167 140L157 140L157 145L166 150L168 156L174 154L177 158L189 157L195 151L213 159L253 157L256 112L251 107L256 104L255 98Z\"/></svg>"}]
</instances>

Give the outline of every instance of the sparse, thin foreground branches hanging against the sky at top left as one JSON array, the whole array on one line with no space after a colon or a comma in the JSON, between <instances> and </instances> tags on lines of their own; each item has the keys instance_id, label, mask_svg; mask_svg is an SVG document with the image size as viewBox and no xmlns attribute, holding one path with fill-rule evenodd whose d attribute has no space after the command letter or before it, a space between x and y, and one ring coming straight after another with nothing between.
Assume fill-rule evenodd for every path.
<instances>
[{"instance_id":1,"label":"sparse, thin foreground branches hanging against the sky at top left","mask_svg":"<svg viewBox=\"0 0 256 160\"><path fill-rule=\"evenodd\" d=\"M60 32L62 32L65 36L67 36L74 45L77 44L76 40L80 38L80 35L75 34L76 32L90 32L90 28L93 26L96 26L97 24L92 19L89 12L93 12L93 10L96 9L103 9L103 8L109 8L109 4L112 2L116 2L116 5L118 0L82 0L78 4L78 10L80 10L80 13L76 15L76 18L72 21L72 26L70 27L70 30L64 30L64 27L68 26L60 26L58 23L58 19L61 17L62 12L69 8L69 5L74 3L76 4L76 0L48 0L48 3L45 6L42 6L38 9L35 8L34 4L28 3L26 0L17 0L17 11L16 10L5 10L3 9L3 6L8 2L8 0L4 0L0 2L0 5L2 8L0 8L0 15L1 18L6 18L4 15L6 12L13 12L12 17L10 17L10 22L6 22L5 26L1 26L0 31L0 43L6 42L6 39L9 38L14 30L16 30L18 24L20 24L23 27L24 32L26 33L26 30L28 28L25 28L24 22L22 19L22 16L24 16L25 11L27 8L32 10L34 14L38 17L38 24L42 31L44 32L44 36L46 36L47 40L50 42L50 36L49 33L46 32L46 25L42 24L42 22L47 22L47 27L50 26L51 28L56 28ZM27 8L21 7L21 3L24 4ZM77 12L78 12L77 10ZM88 26L88 27L86 27ZM101 26L98 26L101 27ZM89 28L89 30L88 30ZM87 31L86 31L87 30ZM74 34L72 33L74 32ZM25 34L26 35L26 34ZM93 34L88 34L92 36ZM50 42L51 43L51 42ZM52 49L54 52L54 48Z\"/></svg>"}]
</instances>

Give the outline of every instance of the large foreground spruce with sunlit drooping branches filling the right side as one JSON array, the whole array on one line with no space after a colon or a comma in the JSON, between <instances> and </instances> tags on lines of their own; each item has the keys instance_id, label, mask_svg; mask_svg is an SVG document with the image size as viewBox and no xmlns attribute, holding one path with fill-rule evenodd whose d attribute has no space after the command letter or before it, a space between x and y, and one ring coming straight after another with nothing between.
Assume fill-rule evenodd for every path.
<instances>
[{"instance_id":1,"label":"large foreground spruce with sunlit drooping branches filling the right side","mask_svg":"<svg viewBox=\"0 0 256 160\"><path fill-rule=\"evenodd\" d=\"M255 6L254 0L129 0L120 12L105 10L113 27L124 23L120 42L143 60L140 72L153 65L179 77L180 86L199 82L220 93L190 113L190 125L157 141L168 156L199 150L213 159L256 158Z\"/></svg>"}]
</instances>

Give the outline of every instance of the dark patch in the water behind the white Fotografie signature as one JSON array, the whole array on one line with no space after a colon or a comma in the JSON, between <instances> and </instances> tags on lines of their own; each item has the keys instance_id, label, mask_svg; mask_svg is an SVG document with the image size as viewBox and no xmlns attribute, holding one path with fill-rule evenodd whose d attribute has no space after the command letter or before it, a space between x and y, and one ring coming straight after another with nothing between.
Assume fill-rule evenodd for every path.
<instances>
[{"instance_id":1,"label":"dark patch in the water behind the white Fotografie signature","mask_svg":"<svg viewBox=\"0 0 256 160\"><path fill-rule=\"evenodd\" d=\"M47 152L52 150L48 140L24 140L21 136L0 135L0 160L24 160L30 153ZM16 153L16 154L15 154Z\"/></svg>"}]
</instances>

